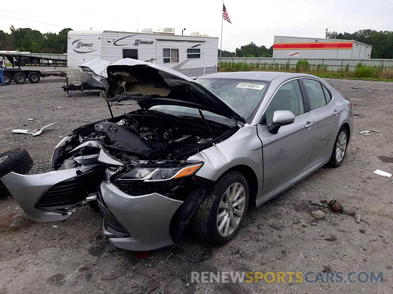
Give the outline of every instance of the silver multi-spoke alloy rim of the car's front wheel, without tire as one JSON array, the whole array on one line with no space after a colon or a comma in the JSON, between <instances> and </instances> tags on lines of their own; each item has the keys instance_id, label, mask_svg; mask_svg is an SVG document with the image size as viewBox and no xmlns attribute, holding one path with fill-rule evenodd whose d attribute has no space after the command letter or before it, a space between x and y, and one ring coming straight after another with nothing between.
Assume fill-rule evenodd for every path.
<instances>
[{"instance_id":1,"label":"silver multi-spoke alloy rim of the car's front wheel, without tire","mask_svg":"<svg viewBox=\"0 0 393 294\"><path fill-rule=\"evenodd\" d=\"M223 237L230 236L244 214L246 191L241 183L233 183L226 189L217 211L217 230Z\"/></svg>"}]
</instances>

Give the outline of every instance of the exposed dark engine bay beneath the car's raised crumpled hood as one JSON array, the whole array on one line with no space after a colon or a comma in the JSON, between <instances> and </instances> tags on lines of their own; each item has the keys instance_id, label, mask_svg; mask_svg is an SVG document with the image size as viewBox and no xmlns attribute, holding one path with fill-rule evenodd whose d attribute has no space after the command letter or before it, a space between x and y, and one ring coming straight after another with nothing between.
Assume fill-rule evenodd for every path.
<instances>
[{"instance_id":1,"label":"exposed dark engine bay beneath the car's raised crumpled hood","mask_svg":"<svg viewBox=\"0 0 393 294\"><path fill-rule=\"evenodd\" d=\"M68 167L91 164L101 148L124 165L134 165L135 160L184 160L237 129L217 122L209 123L209 127L211 133L202 118L139 109L74 130L64 145L55 149L52 166L57 169L68 158L72 158Z\"/></svg>"}]
</instances>

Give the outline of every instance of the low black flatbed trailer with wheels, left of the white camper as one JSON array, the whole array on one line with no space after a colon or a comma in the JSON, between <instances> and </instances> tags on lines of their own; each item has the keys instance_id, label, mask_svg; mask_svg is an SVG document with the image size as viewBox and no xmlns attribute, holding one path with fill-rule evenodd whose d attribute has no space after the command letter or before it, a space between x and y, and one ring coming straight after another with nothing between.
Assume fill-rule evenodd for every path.
<instances>
[{"instance_id":1,"label":"low black flatbed trailer with wheels, left of the white camper","mask_svg":"<svg viewBox=\"0 0 393 294\"><path fill-rule=\"evenodd\" d=\"M15 69L4 69L3 76L4 76L4 82L6 83L6 85L9 85L12 80L17 84L24 84L26 82L26 79L28 79L30 83L38 83L41 78L45 78L48 76L66 77L67 74L64 71L42 73L41 71L37 71L33 69L15 68Z\"/></svg>"}]
</instances>

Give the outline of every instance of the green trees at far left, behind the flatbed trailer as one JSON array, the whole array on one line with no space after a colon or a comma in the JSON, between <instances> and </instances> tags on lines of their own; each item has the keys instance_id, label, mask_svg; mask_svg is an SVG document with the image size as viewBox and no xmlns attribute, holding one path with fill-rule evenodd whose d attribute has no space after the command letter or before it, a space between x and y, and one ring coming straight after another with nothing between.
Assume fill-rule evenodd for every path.
<instances>
[{"instance_id":1,"label":"green trees at far left, behind the flatbed trailer","mask_svg":"<svg viewBox=\"0 0 393 294\"><path fill-rule=\"evenodd\" d=\"M31 53L62 54L67 52L67 34L72 31L69 27L59 33L41 33L29 27L9 28L11 33L0 30L0 50L30 51Z\"/></svg>"}]
</instances>

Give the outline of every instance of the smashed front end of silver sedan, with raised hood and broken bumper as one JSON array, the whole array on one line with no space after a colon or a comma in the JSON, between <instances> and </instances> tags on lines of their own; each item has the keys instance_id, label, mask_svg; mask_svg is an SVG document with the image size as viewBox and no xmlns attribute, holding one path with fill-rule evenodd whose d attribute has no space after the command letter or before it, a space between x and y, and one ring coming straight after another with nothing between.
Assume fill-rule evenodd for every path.
<instances>
[{"instance_id":1,"label":"smashed front end of silver sedan, with raised hood and broken bumper","mask_svg":"<svg viewBox=\"0 0 393 294\"><path fill-rule=\"evenodd\" d=\"M128 58L106 71L97 61L81 68L106 86L108 105L136 100L141 109L73 130L53 151L53 171L11 172L2 182L30 220L65 220L96 195L103 232L114 245L171 245L213 186L196 176L204 162L190 156L229 138L244 118L171 69Z\"/></svg>"}]
</instances>

